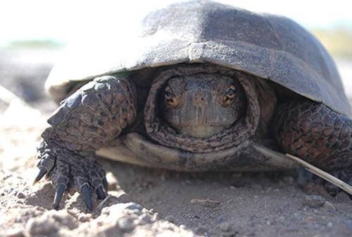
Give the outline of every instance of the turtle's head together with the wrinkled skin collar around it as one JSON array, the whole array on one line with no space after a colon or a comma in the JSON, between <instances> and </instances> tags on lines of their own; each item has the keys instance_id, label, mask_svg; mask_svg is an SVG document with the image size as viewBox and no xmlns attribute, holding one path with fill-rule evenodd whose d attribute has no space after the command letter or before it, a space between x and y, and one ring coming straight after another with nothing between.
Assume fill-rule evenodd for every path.
<instances>
[{"instance_id":1,"label":"turtle's head together with the wrinkled skin collar around it","mask_svg":"<svg viewBox=\"0 0 352 237\"><path fill-rule=\"evenodd\" d=\"M154 78L144 125L157 144L208 153L256 133L260 108L253 76L212 64L180 64Z\"/></svg>"}]
</instances>

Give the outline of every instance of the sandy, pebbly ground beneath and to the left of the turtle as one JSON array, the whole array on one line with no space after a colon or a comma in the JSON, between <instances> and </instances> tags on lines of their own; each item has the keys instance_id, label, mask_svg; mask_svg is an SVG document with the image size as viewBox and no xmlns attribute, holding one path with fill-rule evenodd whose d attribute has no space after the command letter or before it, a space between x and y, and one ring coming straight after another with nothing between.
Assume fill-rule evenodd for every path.
<instances>
[{"instance_id":1,"label":"sandy, pebbly ground beneath and to the left of the turtle","mask_svg":"<svg viewBox=\"0 0 352 237\"><path fill-rule=\"evenodd\" d=\"M87 212L69 194L53 210L50 183L32 181L35 147L55 108L42 85L56 56L0 51L0 85L16 95L0 102L0 236L351 236L348 195L331 197L298 171L187 174L101 159L107 199L94 197Z\"/></svg>"}]
</instances>

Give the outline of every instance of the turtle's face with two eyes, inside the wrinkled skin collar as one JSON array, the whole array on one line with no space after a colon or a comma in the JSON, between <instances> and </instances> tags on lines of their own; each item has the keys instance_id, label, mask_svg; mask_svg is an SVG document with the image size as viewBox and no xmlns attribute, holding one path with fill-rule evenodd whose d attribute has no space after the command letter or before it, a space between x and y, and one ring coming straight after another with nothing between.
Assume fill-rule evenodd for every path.
<instances>
[{"instance_id":1,"label":"turtle's face with two eyes, inside the wrinkled skin collar","mask_svg":"<svg viewBox=\"0 0 352 237\"><path fill-rule=\"evenodd\" d=\"M216 73L170 78L161 90L161 111L178 133L208 138L232 126L246 111L239 81Z\"/></svg>"}]
</instances>

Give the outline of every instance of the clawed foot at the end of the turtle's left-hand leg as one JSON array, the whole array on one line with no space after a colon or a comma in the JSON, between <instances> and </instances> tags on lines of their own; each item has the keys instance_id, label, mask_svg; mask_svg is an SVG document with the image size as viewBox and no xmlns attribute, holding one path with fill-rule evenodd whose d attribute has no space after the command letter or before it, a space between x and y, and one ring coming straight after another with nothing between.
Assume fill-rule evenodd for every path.
<instances>
[{"instance_id":1,"label":"clawed foot at the end of the turtle's left-hand leg","mask_svg":"<svg viewBox=\"0 0 352 237\"><path fill-rule=\"evenodd\" d=\"M38 152L39 172L34 183L45 175L49 178L55 189L54 209L58 209L61 198L68 192L79 192L89 210L93 209L92 193L100 200L106 197L105 171L96 162L93 152L73 152L45 141L38 147Z\"/></svg>"}]
</instances>

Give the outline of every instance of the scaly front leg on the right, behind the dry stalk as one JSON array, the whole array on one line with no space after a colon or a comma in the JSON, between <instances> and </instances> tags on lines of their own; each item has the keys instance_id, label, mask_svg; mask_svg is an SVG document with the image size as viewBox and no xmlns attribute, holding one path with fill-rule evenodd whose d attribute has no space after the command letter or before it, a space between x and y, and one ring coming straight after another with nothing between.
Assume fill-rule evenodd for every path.
<instances>
[{"instance_id":1,"label":"scaly front leg on the right, behind the dry stalk","mask_svg":"<svg viewBox=\"0 0 352 237\"><path fill-rule=\"evenodd\" d=\"M272 125L284 152L352 184L352 120L347 116L324 104L296 101L279 105Z\"/></svg>"}]
</instances>

